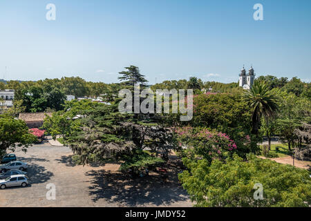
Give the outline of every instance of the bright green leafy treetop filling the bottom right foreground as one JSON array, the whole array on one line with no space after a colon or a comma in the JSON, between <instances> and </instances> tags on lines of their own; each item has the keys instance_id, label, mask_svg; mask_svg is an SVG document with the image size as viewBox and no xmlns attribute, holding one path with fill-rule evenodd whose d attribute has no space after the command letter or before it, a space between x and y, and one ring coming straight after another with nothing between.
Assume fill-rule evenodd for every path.
<instances>
[{"instance_id":1,"label":"bright green leafy treetop filling the bottom right foreground","mask_svg":"<svg viewBox=\"0 0 311 221\"><path fill-rule=\"evenodd\" d=\"M188 170L179 175L195 206L286 207L311 204L309 172L249 155L221 160L202 157L185 161ZM262 189L258 189L261 188ZM255 191L263 191L263 198Z\"/></svg>"}]
</instances>

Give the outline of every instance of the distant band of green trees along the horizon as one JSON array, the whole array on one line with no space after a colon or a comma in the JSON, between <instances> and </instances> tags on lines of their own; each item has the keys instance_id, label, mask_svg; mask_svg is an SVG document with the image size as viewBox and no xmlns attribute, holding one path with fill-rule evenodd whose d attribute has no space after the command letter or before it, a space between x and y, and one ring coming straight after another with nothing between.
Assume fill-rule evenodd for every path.
<instances>
[{"instance_id":1,"label":"distant band of green trees along the horizon","mask_svg":"<svg viewBox=\"0 0 311 221\"><path fill-rule=\"evenodd\" d=\"M311 97L311 83L305 83L297 77L288 79L287 77L275 77L272 75L260 76L255 81L265 81L270 88L283 88L288 93L294 93L296 96ZM29 89L35 86L43 90L51 90L51 88L58 88L64 95L74 95L75 97L98 97L103 94L116 93L122 84L106 84L103 82L86 81L81 77L62 77L61 79L44 79L39 81L5 81L0 80L0 89L14 89L17 93L23 89ZM242 90L238 86L238 82L229 84L220 83L216 81L205 81L197 77L190 77L187 79L162 81L162 83L151 86L152 90L156 89L188 89L205 91L211 89L211 92L230 93L236 90Z\"/></svg>"}]
</instances>

